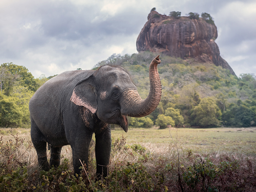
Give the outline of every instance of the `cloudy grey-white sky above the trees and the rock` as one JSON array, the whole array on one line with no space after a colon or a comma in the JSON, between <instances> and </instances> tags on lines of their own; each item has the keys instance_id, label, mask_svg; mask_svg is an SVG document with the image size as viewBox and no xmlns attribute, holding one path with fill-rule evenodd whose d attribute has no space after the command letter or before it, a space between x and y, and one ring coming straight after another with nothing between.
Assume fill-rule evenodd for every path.
<instances>
[{"instance_id":1,"label":"cloudy grey-white sky above the trees and the rock","mask_svg":"<svg viewBox=\"0 0 256 192\"><path fill-rule=\"evenodd\" d=\"M1 0L0 64L35 76L91 69L113 53L137 53L150 10L211 14L220 55L239 76L256 75L255 0Z\"/></svg>"}]
</instances>

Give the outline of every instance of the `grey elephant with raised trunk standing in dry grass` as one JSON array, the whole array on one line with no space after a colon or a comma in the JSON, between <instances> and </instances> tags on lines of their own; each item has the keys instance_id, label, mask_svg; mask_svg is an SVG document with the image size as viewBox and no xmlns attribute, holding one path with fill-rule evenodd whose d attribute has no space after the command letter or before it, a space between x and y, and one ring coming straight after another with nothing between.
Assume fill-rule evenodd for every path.
<instances>
[{"instance_id":1,"label":"grey elephant with raised trunk standing in dry grass","mask_svg":"<svg viewBox=\"0 0 256 192\"><path fill-rule=\"evenodd\" d=\"M111 151L110 124L118 124L127 132L127 116L143 117L156 109L162 92L157 71L160 62L158 55L149 65L150 91L144 100L120 66L67 71L45 82L29 101L30 135L39 166L44 170L52 165L58 167L61 148L70 145L74 174L79 175L80 160L88 167L88 150L95 133L96 175L106 177Z\"/></svg>"}]
</instances>

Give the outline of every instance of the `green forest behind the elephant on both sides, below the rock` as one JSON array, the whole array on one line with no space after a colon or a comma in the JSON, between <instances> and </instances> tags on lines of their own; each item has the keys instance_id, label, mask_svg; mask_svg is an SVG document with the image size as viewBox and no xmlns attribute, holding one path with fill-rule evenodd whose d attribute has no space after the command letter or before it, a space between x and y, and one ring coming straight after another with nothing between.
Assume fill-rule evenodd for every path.
<instances>
[{"instance_id":1,"label":"green forest behind the elephant on both sides, below the rock","mask_svg":"<svg viewBox=\"0 0 256 192\"><path fill-rule=\"evenodd\" d=\"M142 99L149 92L148 67L157 53L111 55L93 66L124 67ZM193 58L182 60L160 54L158 71L162 97L149 116L129 118L130 127L251 127L256 126L256 76L236 77L228 69ZM54 75L55 76L55 75ZM30 127L28 103L36 90L52 78L35 78L26 67L13 63L0 66L0 127Z\"/></svg>"}]
</instances>

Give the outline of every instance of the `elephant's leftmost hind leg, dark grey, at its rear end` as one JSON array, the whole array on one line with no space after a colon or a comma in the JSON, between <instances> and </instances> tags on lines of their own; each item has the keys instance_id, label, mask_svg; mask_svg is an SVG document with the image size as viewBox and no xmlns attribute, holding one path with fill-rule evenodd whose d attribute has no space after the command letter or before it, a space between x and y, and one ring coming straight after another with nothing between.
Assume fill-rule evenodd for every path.
<instances>
[{"instance_id":1,"label":"elephant's leftmost hind leg, dark grey, at its rear end","mask_svg":"<svg viewBox=\"0 0 256 192\"><path fill-rule=\"evenodd\" d=\"M46 141L44 140L43 134L40 132L32 118L30 135L36 149L38 164L43 170L48 171L50 166L47 161Z\"/></svg>"}]
</instances>

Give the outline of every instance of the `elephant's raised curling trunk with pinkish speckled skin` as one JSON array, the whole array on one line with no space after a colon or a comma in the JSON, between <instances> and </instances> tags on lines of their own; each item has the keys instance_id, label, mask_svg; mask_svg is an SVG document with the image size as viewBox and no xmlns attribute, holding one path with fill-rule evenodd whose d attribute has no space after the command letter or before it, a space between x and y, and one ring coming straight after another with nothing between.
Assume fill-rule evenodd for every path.
<instances>
[{"instance_id":1,"label":"elephant's raised curling trunk with pinkish speckled skin","mask_svg":"<svg viewBox=\"0 0 256 192\"><path fill-rule=\"evenodd\" d=\"M146 99L142 100L135 89L128 89L124 92L124 100L120 102L122 103L122 114L131 117L144 117L156 109L162 93L161 81L157 71L157 65L160 62L158 55L149 65L150 91Z\"/></svg>"}]
</instances>

